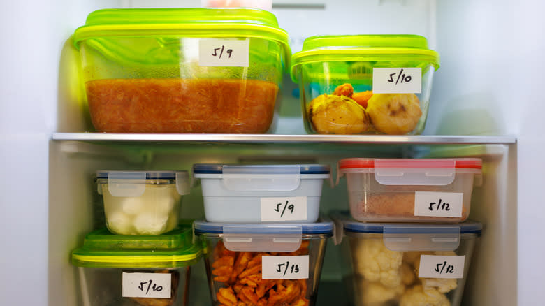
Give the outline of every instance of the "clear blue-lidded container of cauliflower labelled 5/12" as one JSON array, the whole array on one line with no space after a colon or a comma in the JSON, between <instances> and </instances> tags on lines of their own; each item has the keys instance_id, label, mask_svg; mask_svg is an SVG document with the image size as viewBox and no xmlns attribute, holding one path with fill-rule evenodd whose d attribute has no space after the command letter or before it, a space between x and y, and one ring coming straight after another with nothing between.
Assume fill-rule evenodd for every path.
<instances>
[{"instance_id":1,"label":"clear blue-lidded container of cauliflower labelled 5/12","mask_svg":"<svg viewBox=\"0 0 545 306\"><path fill-rule=\"evenodd\" d=\"M335 218L354 305L458 306L481 224L384 224Z\"/></svg>"}]
</instances>

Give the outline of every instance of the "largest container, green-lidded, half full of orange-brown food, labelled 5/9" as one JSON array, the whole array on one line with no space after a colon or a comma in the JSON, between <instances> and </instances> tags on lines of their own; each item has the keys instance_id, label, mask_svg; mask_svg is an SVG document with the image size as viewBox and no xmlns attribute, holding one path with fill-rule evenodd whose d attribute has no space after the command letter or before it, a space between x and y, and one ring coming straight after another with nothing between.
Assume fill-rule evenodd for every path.
<instances>
[{"instance_id":1,"label":"largest container, green-lidded, half full of orange-brown food, labelled 5/9","mask_svg":"<svg viewBox=\"0 0 545 306\"><path fill-rule=\"evenodd\" d=\"M254 8L108 9L75 30L96 130L265 133L291 50Z\"/></svg>"}]
</instances>

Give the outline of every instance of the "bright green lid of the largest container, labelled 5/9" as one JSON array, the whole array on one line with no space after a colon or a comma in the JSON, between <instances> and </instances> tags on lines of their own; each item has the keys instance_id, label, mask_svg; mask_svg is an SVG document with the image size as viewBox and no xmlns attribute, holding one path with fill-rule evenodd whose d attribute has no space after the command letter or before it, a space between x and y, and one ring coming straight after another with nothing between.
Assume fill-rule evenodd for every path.
<instances>
[{"instance_id":1,"label":"bright green lid of the largest container, labelled 5/9","mask_svg":"<svg viewBox=\"0 0 545 306\"><path fill-rule=\"evenodd\" d=\"M75 30L76 48L106 37L263 38L280 43L289 67L289 36L273 13L256 8L117 8L96 10Z\"/></svg>"}]
</instances>

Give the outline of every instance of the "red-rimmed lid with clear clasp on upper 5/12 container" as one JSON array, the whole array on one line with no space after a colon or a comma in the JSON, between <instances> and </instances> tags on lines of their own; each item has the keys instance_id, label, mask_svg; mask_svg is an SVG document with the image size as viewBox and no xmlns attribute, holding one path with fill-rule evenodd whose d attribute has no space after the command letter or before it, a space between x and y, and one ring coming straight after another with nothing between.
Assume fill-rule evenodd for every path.
<instances>
[{"instance_id":1,"label":"red-rimmed lid with clear clasp on upper 5/12 container","mask_svg":"<svg viewBox=\"0 0 545 306\"><path fill-rule=\"evenodd\" d=\"M337 163L337 184L345 173L373 173L384 185L451 184L458 173L477 175L481 184L481 159L341 159Z\"/></svg>"}]
</instances>

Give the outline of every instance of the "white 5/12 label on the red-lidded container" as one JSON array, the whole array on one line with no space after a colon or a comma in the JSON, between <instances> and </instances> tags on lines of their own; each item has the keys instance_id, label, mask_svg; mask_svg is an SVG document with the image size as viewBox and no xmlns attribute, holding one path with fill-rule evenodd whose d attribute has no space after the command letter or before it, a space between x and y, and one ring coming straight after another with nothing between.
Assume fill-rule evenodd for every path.
<instances>
[{"instance_id":1,"label":"white 5/12 label on the red-lidded container","mask_svg":"<svg viewBox=\"0 0 545 306\"><path fill-rule=\"evenodd\" d=\"M414 215L424 217L462 217L463 193L416 191Z\"/></svg>"}]
</instances>

